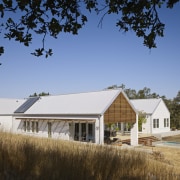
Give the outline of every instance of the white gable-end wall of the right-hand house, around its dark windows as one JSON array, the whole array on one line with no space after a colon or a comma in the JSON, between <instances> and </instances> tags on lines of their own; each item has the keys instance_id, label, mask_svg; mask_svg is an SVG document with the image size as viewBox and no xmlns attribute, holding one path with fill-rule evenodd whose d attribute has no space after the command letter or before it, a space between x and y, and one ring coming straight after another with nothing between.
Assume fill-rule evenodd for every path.
<instances>
[{"instance_id":1,"label":"white gable-end wall of the right-hand house, around its dark windows","mask_svg":"<svg viewBox=\"0 0 180 180\"><path fill-rule=\"evenodd\" d=\"M164 127L164 118L169 119L169 127ZM153 119L159 119L159 128L153 128ZM152 133L170 131L170 113L163 101L161 101L152 115Z\"/></svg>"}]
</instances>

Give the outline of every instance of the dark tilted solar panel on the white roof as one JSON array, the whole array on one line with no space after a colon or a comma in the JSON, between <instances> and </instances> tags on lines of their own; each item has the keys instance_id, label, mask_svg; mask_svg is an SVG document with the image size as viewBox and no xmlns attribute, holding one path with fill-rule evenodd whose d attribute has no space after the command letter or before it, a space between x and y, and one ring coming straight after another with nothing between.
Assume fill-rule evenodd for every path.
<instances>
[{"instance_id":1,"label":"dark tilted solar panel on the white roof","mask_svg":"<svg viewBox=\"0 0 180 180\"><path fill-rule=\"evenodd\" d=\"M39 97L30 97L18 109L16 109L14 113L26 112L38 99Z\"/></svg>"}]
</instances>

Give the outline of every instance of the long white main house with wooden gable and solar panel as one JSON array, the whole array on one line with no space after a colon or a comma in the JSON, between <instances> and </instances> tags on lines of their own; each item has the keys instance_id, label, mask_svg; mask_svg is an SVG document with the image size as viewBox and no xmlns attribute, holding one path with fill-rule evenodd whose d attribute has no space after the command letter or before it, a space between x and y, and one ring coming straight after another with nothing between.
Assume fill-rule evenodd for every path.
<instances>
[{"instance_id":1,"label":"long white main house with wooden gable and solar panel","mask_svg":"<svg viewBox=\"0 0 180 180\"><path fill-rule=\"evenodd\" d=\"M13 132L104 143L108 123L132 123L138 145L138 114L122 89L29 98L14 112Z\"/></svg>"}]
</instances>

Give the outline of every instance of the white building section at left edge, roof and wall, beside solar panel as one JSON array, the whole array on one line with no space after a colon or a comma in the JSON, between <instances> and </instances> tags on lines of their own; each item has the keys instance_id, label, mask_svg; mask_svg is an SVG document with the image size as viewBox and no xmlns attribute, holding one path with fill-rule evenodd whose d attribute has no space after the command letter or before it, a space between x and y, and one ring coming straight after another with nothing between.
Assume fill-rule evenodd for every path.
<instances>
[{"instance_id":1,"label":"white building section at left edge, roof and wall, beside solar panel","mask_svg":"<svg viewBox=\"0 0 180 180\"><path fill-rule=\"evenodd\" d=\"M11 131L14 111L25 102L24 99L0 98L0 130Z\"/></svg>"}]
</instances>

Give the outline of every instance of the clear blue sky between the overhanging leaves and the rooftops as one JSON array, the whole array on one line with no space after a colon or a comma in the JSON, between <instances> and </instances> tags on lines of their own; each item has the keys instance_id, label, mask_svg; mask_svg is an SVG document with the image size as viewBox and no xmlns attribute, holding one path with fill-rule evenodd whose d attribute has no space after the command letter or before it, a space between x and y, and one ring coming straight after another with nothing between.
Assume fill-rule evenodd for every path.
<instances>
[{"instance_id":1,"label":"clear blue sky between the overhanging leaves and the rooftops","mask_svg":"<svg viewBox=\"0 0 180 180\"><path fill-rule=\"evenodd\" d=\"M48 38L46 47L54 51L48 59L30 54L41 46L38 37L29 48L1 38L6 53L0 56L0 98L26 98L42 91L88 92L122 83L175 97L180 90L180 4L161 10L160 15L166 24L165 37L152 50L133 32L119 32L112 16L104 19L102 28L97 27L100 16L92 15L77 36Z\"/></svg>"}]
</instances>

